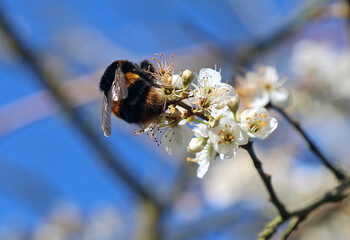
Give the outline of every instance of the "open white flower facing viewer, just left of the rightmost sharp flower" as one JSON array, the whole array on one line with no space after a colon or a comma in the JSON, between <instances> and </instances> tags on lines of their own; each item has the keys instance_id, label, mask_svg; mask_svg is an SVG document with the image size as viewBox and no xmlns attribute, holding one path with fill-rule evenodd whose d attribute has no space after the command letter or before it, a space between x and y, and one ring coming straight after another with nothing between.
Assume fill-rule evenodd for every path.
<instances>
[{"instance_id":1,"label":"open white flower facing viewer, just left of the rightmost sharp flower","mask_svg":"<svg viewBox=\"0 0 350 240\"><path fill-rule=\"evenodd\" d=\"M232 118L224 117L218 126L209 130L209 139L213 142L214 149L220 153L220 158L227 159L235 156L239 145L247 144L248 135Z\"/></svg>"}]
</instances>

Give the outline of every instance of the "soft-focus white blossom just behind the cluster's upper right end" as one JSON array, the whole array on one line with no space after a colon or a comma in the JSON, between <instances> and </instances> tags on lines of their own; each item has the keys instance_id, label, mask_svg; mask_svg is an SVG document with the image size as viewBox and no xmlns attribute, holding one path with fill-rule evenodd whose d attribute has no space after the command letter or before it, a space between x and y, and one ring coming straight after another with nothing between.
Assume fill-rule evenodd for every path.
<instances>
[{"instance_id":1,"label":"soft-focus white blossom just behind the cluster's upper right end","mask_svg":"<svg viewBox=\"0 0 350 240\"><path fill-rule=\"evenodd\" d=\"M280 79L276 68L261 66L258 72L238 77L236 90L248 107L264 107L268 103L284 108L290 103L290 92L283 88L286 79Z\"/></svg>"}]
</instances>

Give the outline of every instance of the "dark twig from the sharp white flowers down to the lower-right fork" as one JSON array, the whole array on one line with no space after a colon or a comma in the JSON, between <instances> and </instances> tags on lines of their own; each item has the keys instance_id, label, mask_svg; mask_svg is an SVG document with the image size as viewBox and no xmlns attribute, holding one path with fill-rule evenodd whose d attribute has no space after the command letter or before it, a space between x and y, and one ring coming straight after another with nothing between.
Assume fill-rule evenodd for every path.
<instances>
[{"instance_id":1,"label":"dark twig from the sharp white flowers down to the lower-right fork","mask_svg":"<svg viewBox=\"0 0 350 240\"><path fill-rule=\"evenodd\" d=\"M253 142L249 141L246 145L244 145L242 147L248 151L250 157L252 158L255 168L256 168L256 170L258 170L258 173L259 173L261 179L263 180L267 191L270 194L269 200L275 205L275 207L277 208L282 219L289 218L289 215L290 215L289 212L286 210L283 203L278 199L278 197L275 193L275 190L273 189L273 186L271 183L271 175L264 172L264 170L262 168L262 164L254 152Z\"/></svg>"}]
</instances>

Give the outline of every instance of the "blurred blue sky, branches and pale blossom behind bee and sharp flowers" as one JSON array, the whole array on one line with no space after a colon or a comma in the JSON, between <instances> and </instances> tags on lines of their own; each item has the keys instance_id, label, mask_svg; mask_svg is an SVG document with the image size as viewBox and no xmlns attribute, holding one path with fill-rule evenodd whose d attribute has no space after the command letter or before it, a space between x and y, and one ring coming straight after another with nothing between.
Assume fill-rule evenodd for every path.
<instances>
[{"instance_id":1,"label":"blurred blue sky, branches and pale blossom behind bee and sharp flowers","mask_svg":"<svg viewBox=\"0 0 350 240\"><path fill-rule=\"evenodd\" d=\"M249 155L204 179L136 126L100 130L98 83L114 60L175 53L175 71L258 64L288 78L287 109L350 169L347 1L0 1L0 239L256 239L276 216ZM277 112L257 154L289 209L336 185ZM349 239L350 202L312 214L292 239Z\"/></svg>"}]
</instances>

